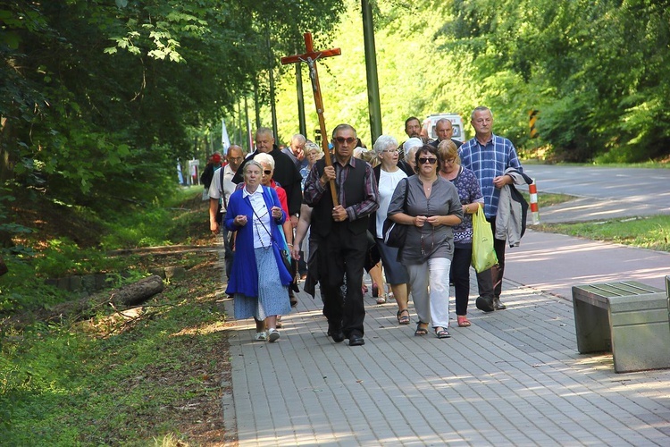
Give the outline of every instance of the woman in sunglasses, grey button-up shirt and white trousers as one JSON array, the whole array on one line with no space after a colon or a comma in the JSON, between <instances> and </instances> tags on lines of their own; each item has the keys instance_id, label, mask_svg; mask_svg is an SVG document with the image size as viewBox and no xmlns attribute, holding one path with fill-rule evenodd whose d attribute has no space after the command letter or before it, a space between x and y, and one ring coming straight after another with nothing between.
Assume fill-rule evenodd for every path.
<instances>
[{"instance_id":1,"label":"woman in sunglasses, grey button-up shirt and white trousers","mask_svg":"<svg viewBox=\"0 0 670 447\"><path fill-rule=\"evenodd\" d=\"M431 324L438 338L448 338L452 227L463 220L463 207L456 187L438 175L442 161L437 148L423 145L416 150L415 162L416 174L398 183L388 215L408 225L399 257L409 274L419 318L415 335L427 334Z\"/></svg>"}]
</instances>

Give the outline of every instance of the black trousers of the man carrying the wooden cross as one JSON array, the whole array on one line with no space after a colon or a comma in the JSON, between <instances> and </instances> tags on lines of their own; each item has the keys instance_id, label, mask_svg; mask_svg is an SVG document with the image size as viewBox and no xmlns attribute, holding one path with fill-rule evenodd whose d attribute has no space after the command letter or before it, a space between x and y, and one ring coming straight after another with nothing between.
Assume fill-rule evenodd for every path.
<instances>
[{"instance_id":1,"label":"black trousers of the man carrying the wooden cross","mask_svg":"<svg viewBox=\"0 0 670 447\"><path fill-rule=\"evenodd\" d=\"M345 224L333 224L331 234L320 237L317 251L319 284L323 299L323 316L334 327L341 325L345 337L363 336L363 266L367 252L365 232L349 232ZM347 295L341 286L347 275Z\"/></svg>"}]
</instances>

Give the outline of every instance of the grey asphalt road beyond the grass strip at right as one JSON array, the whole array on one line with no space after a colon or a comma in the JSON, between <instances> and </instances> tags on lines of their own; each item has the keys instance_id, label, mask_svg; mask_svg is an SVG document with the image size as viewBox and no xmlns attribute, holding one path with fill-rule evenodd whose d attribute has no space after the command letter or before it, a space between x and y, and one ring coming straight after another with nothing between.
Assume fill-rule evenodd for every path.
<instances>
[{"instance_id":1,"label":"grey asphalt road beyond the grass strip at right","mask_svg":"<svg viewBox=\"0 0 670 447\"><path fill-rule=\"evenodd\" d=\"M670 169L528 164L523 171L535 179L538 195L577 197L540 209L540 223L670 214Z\"/></svg>"}]
</instances>

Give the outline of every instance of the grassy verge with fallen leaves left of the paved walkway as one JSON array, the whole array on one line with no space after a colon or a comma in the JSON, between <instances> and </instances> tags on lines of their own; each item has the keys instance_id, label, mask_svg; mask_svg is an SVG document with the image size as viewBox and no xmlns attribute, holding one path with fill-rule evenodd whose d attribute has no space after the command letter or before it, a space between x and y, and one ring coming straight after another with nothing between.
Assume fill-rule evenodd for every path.
<instances>
[{"instance_id":1,"label":"grassy verge with fallen leaves left of the paved walkway","mask_svg":"<svg viewBox=\"0 0 670 447\"><path fill-rule=\"evenodd\" d=\"M170 234L172 245L212 245L199 190L197 200L188 190L181 199L156 221L161 240ZM159 252L117 262L141 272L188 271L141 306L96 308L83 321L12 325L0 314L3 445L222 443L222 382L230 365L218 254ZM89 263L95 268L96 257ZM13 292L27 293L20 286L14 283Z\"/></svg>"}]
</instances>

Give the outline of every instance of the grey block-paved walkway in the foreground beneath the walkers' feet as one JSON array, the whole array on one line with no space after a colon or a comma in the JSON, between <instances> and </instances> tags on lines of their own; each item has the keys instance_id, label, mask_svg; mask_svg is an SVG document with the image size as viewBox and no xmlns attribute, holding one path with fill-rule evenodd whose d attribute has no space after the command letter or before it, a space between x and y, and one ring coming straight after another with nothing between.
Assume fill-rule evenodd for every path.
<instances>
[{"instance_id":1,"label":"grey block-paved walkway in the foreground beneath the walkers' feet","mask_svg":"<svg viewBox=\"0 0 670 447\"><path fill-rule=\"evenodd\" d=\"M473 282L473 325L456 327L452 301L446 340L415 337L413 308L400 326L395 301L369 294L363 347L331 342L304 292L279 342L233 322L226 430L242 446L670 445L670 370L616 374L611 354L577 352L569 299L503 290L507 310L484 314Z\"/></svg>"}]
</instances>

